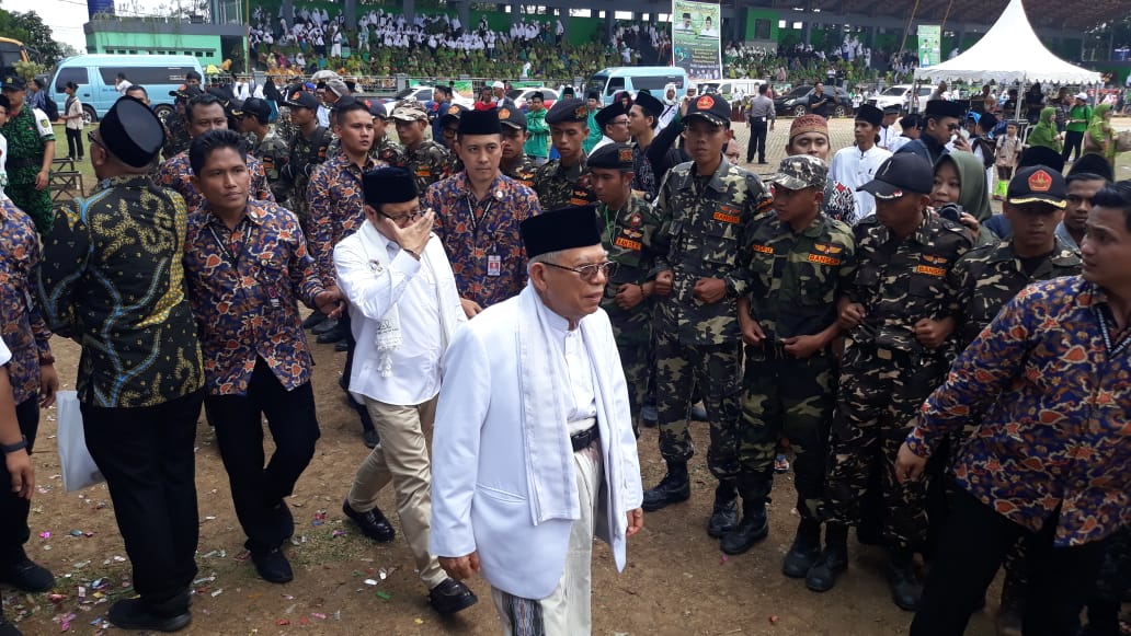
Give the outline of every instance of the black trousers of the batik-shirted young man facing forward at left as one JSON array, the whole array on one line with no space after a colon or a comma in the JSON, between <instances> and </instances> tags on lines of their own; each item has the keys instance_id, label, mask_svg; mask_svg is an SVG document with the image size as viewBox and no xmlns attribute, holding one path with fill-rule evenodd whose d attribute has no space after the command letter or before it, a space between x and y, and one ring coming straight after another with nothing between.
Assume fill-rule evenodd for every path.
<instances>
[{"instance_id":1,"label":"black trousers of the batik-shirted young man facing forward at left","mask_svg":"<svg viewBox=\"0 0 1131 636\"><path fill-rule=\"evenodd\" d=\"M248 548L280 546L294 534L294 519L283 499L294 491L310 464L320 435L311 384L287 391L259 358L247 395L208 395L205 403L211 411L235 516L248 535ZM275 441L275 453L266 467L265 415Z\"/></svg>"}]
</instances>

